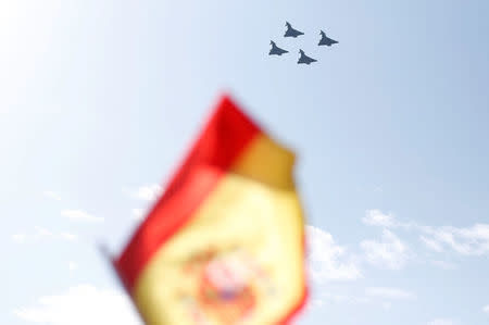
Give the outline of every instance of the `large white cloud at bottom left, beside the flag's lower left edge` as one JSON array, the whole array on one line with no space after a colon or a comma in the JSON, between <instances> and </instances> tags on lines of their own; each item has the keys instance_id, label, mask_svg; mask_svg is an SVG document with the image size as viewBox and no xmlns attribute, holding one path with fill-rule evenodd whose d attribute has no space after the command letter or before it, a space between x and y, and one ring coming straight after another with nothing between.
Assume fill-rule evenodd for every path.
<instances>
[{"instance_id":1,"label":"large white cloud at bottom left, beside the flag's lower left edge","mask_svg":"<svg viewBox=\"0 0 489 325\"><path fill-rule=\"evenodd\" d=\"M126 295L90 285L41 297L36 307L16 309L14 314L43 325L142 325Z\"/></svg>"}]
</instances>

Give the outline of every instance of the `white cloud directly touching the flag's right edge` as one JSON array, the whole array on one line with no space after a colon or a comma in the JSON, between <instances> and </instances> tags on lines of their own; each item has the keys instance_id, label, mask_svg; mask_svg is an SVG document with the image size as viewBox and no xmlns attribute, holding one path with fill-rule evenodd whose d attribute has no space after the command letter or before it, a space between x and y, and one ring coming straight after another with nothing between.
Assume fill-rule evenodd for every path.
<instances>
[{"instance_id":1,"label":"white cloud directly touching the flag's right edge","mask_svg":"<svg viewBox=\"0 0 489 325\"><path fill-rule=\"evenodd\" d=\"M309 271L314 280L347 280L362 277L355 259L333 236L317 227L306 226Z\"/></svg>"}]
</instances>

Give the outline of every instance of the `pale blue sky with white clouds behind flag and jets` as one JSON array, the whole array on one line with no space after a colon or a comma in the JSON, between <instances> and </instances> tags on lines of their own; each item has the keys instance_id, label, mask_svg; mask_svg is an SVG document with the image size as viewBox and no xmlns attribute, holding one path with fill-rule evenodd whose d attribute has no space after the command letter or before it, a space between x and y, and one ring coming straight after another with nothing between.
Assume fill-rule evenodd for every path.
<instances>
[{"instance_id":1,"label":"pale blue sky with white clouds behind flag and jets","mask_svg":"<svg viewBox=\"0 0 489 325\"><path fill-rule=\"evenodd\" d=\"M1 1L0 323L140 324L97 245L228 92L298 154L297 324L488 324L487 39L484 0Z\"/></svg>"}]
</instances>

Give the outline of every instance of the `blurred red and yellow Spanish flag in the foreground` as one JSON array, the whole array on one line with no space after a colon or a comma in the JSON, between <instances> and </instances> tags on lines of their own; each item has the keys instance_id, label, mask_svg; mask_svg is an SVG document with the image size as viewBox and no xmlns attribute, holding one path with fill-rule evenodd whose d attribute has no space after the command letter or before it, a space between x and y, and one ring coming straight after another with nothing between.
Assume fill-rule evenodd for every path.
<instances>
[{"instance_id":1,"label":"blurred red and yellow Spanish flag in the foreground","mask_svg":"<svg viewBox=\"0 0 489 325\"><path fill-rule=\"evenodd\" d=\"M294 155L224 97L115 270L149 325L288 324L306 298Z\"/></svg>"}]
</instances>

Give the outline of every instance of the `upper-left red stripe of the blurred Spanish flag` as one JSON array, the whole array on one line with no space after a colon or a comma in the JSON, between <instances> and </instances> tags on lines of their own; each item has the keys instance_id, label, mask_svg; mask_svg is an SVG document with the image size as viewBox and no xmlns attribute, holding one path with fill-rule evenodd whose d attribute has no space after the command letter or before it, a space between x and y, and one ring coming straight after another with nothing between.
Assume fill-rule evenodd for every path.
<instances>
[{"instance_id":1,"label":"upper-left red stripe of the blurred Spanish flag","mask_svg":"<svg viewBox=\"0 0 489 325\"><path fill-rule=\"evenodd\" d=\"M190 220L259 133L259 127L224 96L167 189L114 261L129 292L153 254Z\"/></svg>"}]
</instances>

